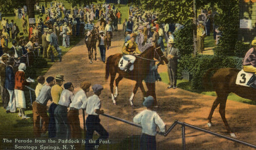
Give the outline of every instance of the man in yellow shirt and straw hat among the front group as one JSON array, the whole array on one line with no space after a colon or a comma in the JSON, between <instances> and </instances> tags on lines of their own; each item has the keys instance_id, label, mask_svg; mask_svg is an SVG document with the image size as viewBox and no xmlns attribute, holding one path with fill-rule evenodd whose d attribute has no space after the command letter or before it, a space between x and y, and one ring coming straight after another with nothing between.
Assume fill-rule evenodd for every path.
<instances>
[{"instance_id":1,"label":"man in yellow shirt and straw hat among the front group","mask_svg":"<svg viewBox=\"0 0 256 150\"><path fill-rule=\"evenodd\" d=\"M51 89L52 104L50 105L50 108L49 108L49 114L50 114L50 119L49 119L50 121L49 121L49 127L48 127L49 138L56 137L56 124L54 119L54 110L58 105L61 92L63 91L63 89L61 88L61 85L64 81L63 78L64 78L63 75L56 75L55 77L56 84L53 85Z\"/></svg>"}]
</instances>

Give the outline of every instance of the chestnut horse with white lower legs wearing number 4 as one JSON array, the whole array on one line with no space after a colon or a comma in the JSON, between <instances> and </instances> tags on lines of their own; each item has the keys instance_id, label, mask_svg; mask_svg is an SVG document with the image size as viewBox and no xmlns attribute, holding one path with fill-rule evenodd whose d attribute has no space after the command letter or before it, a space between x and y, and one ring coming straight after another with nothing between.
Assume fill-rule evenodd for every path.
<instances>
[{"instance_id":1,"label":"chestnut horse with white lower legs wearing number 4","mask_svg":"<svg viewBox=\"0 0 256 150\"><path fill-rule=\"evenodd\" d=\"M168 63L167 58L164 56L163 52L161 51L160 47L149 47L147 48L143 53L141 53L136 57L136 60L134 62L134 70L130 72L125 72L123 70L120 70L118 67L118 63L120 58L122 57L122 54L115 54L108 57L106 60L106 68L105 68L105 79L109 78L109 75L111 76L110 80L110 90L111 90L111 96L113 103L116 105L115 98L118 95L118 83L119 81L124 77L127 79L135 80L136 84L133 89L132 96L130 98L130 104L133 106L133 98L137 92L138 87L143 93L143 96L145 96L145 90L142 84L143 79L146 77L147 73L150 71L150 61L154 61L153 58L158 59L159 61L164 60L165 63ZM119 74L119 76L116 78L116 73ZM114 88L114 80L116 81L116 93L113 94L113 88Z\"/></svg>"}]
</instances>

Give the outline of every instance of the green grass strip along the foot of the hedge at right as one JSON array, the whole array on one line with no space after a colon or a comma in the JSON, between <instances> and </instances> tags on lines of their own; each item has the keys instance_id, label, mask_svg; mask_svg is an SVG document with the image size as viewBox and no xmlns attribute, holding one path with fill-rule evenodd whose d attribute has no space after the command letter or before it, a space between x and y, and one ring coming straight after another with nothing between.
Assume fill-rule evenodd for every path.
<instances>
[{"instance_id":1,"label":"green grass strip along the foot of the hedge at right","mask_svg":"<svg viewBox=\"0 0 256 150\"><path fill-rule=\"evenodd\" d=\"M166 73L160 73L160 76L162 78L162 82L168 84L167 72ZM167 85L166 85L166 87L167 87ZM189 85L189 81L185 80L185 79L177 80L177 87L181 88L183 90L186 90L186 91L196 92L196 93L199 93L199 94L217 96L215 91L205 92L205 91L195 91L195 90L193 90ZM254 104L254 105L256 104L255 101L242 98L240 96L237 96L234 93L230 93L227 98L230 99L230 100L233 100L233 101L244 102L244 103Z\"/></svg>"}]
</instances>

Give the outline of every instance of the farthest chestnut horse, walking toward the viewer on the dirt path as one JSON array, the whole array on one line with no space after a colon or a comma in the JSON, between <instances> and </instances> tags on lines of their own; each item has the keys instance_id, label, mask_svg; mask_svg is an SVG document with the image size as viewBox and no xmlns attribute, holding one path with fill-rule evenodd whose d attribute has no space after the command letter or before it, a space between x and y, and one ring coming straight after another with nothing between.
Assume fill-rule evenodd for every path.
<instances>
[{"instance_id":1,"label":"farthest chestnut horse, walking toward the viewer on the dirt path","mask_svg":"<svg viewBox=\"0 0 256 150\"><path fill-rule=\"evenodd\" d=\"M87 34L87 33L86 33ZM89 35L88 39L84 39L86 41L86 46L87 50L89 53L89 59L90 63L93 63L92 60L97 60L96 55L97 55L97 48L96 48L96 42L99 38L99 32L98 32L98 27L95 27L92 31L91 34ZM93 50L95 52L95 58L93 58Z\"/></svg>"}]
</instances>

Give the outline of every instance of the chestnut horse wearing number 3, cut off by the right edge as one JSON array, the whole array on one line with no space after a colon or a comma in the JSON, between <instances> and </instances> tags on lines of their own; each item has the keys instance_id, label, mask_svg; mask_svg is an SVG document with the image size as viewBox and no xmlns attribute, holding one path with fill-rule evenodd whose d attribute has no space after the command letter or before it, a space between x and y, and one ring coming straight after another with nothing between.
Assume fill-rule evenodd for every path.
<instances>
[{"instance_id":1,"label":"chestnut horse wearing number 3, cut off by the right edge","mask_svg":"<svg viewBox=\"0 0 256 150\"><path fill-rule=\"evenodd\" d=\"M253 94L256 92L256 90L250 87L236 84L237 75L240 70L234 68L209 69L203 77L203 83L205 88L207 89L209 88L209 74L212 71L216 72L210 78L210 82L212 83L213 88L216 91L217 98L211 106L210 114L208 116L208 126L211 126L212 114L214 113L214 110L217 108L217 106L220 104L219 113L225 124L226 130L228 133L230 133L232 137L236 137L234 132L231 132L230 127L227 123L227 119L225 117L227 96L229 93L232 92L243 98L256 100L256 95Z\"/></svg>"}]
</instances>

